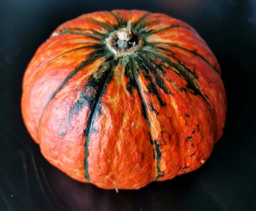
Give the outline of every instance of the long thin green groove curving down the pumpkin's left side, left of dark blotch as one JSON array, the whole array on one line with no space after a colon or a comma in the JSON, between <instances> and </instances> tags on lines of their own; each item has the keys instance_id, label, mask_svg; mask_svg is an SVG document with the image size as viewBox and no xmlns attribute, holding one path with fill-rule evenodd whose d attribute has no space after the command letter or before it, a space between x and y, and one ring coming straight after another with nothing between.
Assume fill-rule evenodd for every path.
<instances>
[{"instance_id":1,"label":"long thin green groove curving down the pumpkin's left side, left of dark blotch","mask_svg":"<svg viewBox=\"0 0 256 211\"><path fill-rule=\"evenodd\" d=\"M57 90L55 90L52 95L50 96L49 100L47 101L47 104L44 106L44 109L41 113L41 117L38 121L38 127L37 127L37 132L38 132L38 138L39 138L39 126L40 126L40 122L42 119L42 116L44 114L44 111L46 109L46 107L49 105L50 101L52 101L52 98L55 97L55 95L57 94L57 92L59 90L62 89L62 87L64 87L65 84L67 84L67 82L74 76L76 75L77 72L79 72L79 70L83 69L85 66L91 64L93 61L95 61L98 58L103 57L106 54L106 49L97 49L96 51L90 53L89 58L87 60L85 60L84 62L82 62L82 64L80 64L79 66L77 66L66 78L65 80L61 83L61 85L57 88Z\"/></svg>"}]
</instances>

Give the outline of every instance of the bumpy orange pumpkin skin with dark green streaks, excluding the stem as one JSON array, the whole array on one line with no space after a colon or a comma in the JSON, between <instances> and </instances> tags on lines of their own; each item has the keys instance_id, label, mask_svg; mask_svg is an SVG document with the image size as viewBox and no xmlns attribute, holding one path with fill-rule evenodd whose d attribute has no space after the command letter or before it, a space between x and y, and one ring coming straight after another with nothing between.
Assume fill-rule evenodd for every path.
<instances>
[{"instance_id":1,"label":"bumpy orange pumpkin skin with dark green streaks, excluding the stem","mask_svg":"<svg viewBox=\"0 0 256 211\"><path fill-rule=\"evenodd\" d=\"M117 56L119 29L143 46ZM115 10L59 26L30 61L21 110L55 167L105 189L139 189L199 168L227 111L218 62L198 33L165 14Z\"/></svg>"}]
</instances>

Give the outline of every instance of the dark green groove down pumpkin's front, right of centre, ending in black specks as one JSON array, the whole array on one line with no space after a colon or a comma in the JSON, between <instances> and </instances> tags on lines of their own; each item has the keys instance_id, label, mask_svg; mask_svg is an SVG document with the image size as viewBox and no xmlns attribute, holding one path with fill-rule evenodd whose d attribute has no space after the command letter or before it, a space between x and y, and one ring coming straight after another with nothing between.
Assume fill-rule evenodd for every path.
<instances>
[{"instance_id":1,"label":"dark green groove down pumpkin's front, right of centre, ending in black specks","mask_svg":"<svg viewBox=\"0 0 256 211\"><path fill-rule=\"evenodd\" d=\"M145 101L143 100L143 95L141 94L141 88L140 88L140 83L138 81L138 77L136 77L136 73L135 73L135 64L134 64L134 60L133 58L131 58L131 65L132 65L132 75L133 75L133 78L134 78L134 81L135 81L135 86L137 88L137 92L140 96L140 100L141 100L141 107L142 107L142 114L143 114L143 117L146 119L147 123L148 123L148 133L149 133L149 138L150 138L150 142L151 142L151 145L153 147L153 154L154 154L154 160L155 160L155 172L156 172L156 176L155 176L155 179L157 179L159 176L158 176L158 173L160 168L157 164L157 151L156 151L156 146L154 145L154 142L152 140L152 136L151 136L151 132L150 132L150 121L148 119L148 112L147 112L147 106L146 106L146 103Z\"/></svg>"}]
</instances>

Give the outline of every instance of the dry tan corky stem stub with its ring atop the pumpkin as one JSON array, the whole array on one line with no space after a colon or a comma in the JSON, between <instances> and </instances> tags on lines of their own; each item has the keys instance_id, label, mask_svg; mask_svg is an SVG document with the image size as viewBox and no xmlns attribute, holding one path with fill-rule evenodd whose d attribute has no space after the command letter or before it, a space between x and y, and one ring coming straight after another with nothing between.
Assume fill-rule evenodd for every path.
<instances>
[{"instance_id":1,"label":"dry tan corky stem stub with its ring atop the pumpkin","mask_svg":"<svg viewBox=\"0 0 256 211\"><path fill-rule=\"evenodd\" d=\"M131 55L143 46L143 36L131 29L120 29L114 32L107 40L107 46L116 55L116 58Z\"/></svg>"}]
</instances>

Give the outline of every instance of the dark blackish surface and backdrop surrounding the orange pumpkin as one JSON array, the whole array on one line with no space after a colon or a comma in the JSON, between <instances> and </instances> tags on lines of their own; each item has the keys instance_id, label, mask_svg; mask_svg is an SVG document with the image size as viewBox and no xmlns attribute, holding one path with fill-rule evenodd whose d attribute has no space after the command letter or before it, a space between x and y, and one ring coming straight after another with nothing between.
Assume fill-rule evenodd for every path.
<instances>
[{"instance_id":1,"label":"dark blackish surface and backdrop surrounding the orange pumpkin","mask_svg":"<svg viewBox=\"0 0 256 211\"><path fill-rule=\"evenodd\" d=\"M20 114L35 50L64 21L112 9L161 12L193 26L215 53L227 91L224 135L197 171L139 191L70 179L42 156ZM0 0L0 210L256 210L255 0Z\"/></svg>"}]
</instances>

